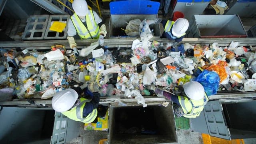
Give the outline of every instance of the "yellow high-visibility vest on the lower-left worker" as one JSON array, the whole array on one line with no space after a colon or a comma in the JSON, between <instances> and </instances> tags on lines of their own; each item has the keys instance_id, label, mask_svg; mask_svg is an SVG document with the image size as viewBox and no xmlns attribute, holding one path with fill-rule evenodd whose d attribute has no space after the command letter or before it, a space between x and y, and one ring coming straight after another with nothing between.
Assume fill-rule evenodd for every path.
<instances>
[{"instance_id":1,"label":"yellow high-visibility vest on the lower-left worker","mask_svg":"<svg viewBox=\"0 0 256 144\"><path fill-rule=\"evenodd\" d=\"M90 114L88 114L85 118L83 118L83 110L86 102L90 102L90 100L86 98L80 98L80 104L78 104L78 106L75 106L74 108L66 112L62 112L62 114L64 114L71 120L89 124L95 120L95 118L97 117L98 111L97 111L97 108L95 108Z\"/></svg>"}]
</instances>

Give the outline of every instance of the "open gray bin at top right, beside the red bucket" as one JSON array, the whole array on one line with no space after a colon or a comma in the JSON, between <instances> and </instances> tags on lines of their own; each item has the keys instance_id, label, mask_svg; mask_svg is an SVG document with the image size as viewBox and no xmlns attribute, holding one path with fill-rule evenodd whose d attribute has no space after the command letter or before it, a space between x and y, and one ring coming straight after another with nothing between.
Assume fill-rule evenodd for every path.
<instances>
[{"instance_id":1,"label":"open gray bin at top right, beside the red bucket","mask_svg":"<svg viewBox=\"0 0 256 144\"><path fill-rule=\"evenodd\" d=\"M238 15L194 15L186 32L188 38L246 38Z\"/></svg>"}]
</instances>

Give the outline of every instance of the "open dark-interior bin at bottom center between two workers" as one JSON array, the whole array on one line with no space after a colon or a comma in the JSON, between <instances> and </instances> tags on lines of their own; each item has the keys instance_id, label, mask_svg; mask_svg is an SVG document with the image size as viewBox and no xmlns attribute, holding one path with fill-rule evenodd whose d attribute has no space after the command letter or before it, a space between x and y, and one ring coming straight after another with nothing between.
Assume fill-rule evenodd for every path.
<instances>
[{"instance_id":1,"label":"open dark-interior bin at bottom center between two workers","mask_svg":"<svg viewBox=\"0 0 256 144\"><path fill-rule=\"evenodd\" d=\"M166 144L177 142L172 105L112 106L109 108L109 144Z\"/></svg>"}]
</instances>

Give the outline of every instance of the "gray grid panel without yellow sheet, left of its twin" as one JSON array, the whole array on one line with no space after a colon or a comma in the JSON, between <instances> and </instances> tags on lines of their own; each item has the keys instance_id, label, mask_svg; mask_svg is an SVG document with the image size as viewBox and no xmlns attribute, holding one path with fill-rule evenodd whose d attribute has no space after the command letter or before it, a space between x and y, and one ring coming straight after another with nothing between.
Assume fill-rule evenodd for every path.
<instances>
[{"instance_id":1,"label":"gray grid panel without yellow sheet, left of its twin","mask_svg":"<svg viewBox=\"0 0 256 144\"><path fill-rule=\"evenodd\" d=\"M22 40L42 40L47 27L49 15L34 15L28 18L28 23L22 35Z\"/></svg>"}]
</instances>

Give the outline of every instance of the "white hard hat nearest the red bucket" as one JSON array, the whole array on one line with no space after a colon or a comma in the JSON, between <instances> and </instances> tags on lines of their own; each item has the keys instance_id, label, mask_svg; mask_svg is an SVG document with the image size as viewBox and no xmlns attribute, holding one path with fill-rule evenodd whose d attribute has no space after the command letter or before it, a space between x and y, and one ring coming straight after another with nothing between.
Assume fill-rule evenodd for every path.
<instances>
[{"instance_id":1,"label":"white hard hat nearest the red bucket","mask_svg":"<svg viewBox=\"0 0 256 144\"><path fill-rule=\"evenodd\" d=\"M178 18L172 26L172 34L176 37L182 36L188 30L188 20Z\"/></svg>"}]
</instances>

